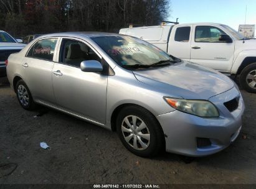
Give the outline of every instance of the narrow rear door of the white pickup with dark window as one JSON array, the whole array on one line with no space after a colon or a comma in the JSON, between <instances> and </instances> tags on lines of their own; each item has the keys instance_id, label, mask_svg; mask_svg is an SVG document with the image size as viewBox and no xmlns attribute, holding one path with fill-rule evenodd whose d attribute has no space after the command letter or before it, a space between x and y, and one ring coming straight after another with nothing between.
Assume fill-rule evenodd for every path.
<instances>
[{"instance_id":1,"label":"narrow rear door of the white pickup with dark window","mask_svg":"<svg viewBox=\"0 0 256 189\"><path fill-rule=\"evenodd\" d=\"M168 43L168 53L183 60L190 60L191 26L173 27Z\"/></svg>"}]
</instances>

